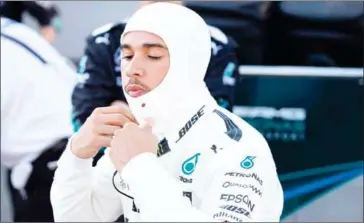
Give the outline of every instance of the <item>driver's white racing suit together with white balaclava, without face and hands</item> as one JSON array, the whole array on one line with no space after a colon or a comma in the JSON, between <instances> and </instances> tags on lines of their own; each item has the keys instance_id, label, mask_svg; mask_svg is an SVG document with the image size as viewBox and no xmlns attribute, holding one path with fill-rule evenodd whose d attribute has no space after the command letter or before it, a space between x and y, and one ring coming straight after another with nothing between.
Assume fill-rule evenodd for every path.
<instances>
[{"instance_id":1,"label":"driver's white racing suit together with white balaclava, without face and hands","mask_svg":"<svg viewBox=\"0 0 364 223\"><path fill-rule=\"evenodd\" d=\"M148 222L279 221L283 191L267 142L220 108L203 84L211 52L203 20L184 7L154 3L130 18L124 34L133 30L159 35L171 55L157 88L133 99L126 94L139 123L152 117L153 133L164 140L157 155L142 153L121 173L109 149L92 167L92 159L68 147L51 191L55 221L110 222L122 214ZM184 48L177 31L191 40Z\"/></svg>"}]
</instances>

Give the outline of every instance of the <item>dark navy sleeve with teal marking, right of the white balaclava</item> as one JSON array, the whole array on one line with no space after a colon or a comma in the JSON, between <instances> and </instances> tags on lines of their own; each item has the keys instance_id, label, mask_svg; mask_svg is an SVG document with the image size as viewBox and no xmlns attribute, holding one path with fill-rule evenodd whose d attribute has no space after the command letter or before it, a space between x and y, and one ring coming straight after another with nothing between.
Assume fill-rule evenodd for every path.
<instances>
[{"instance_id":1,"label":"dark navy sleeve with teal marking, right of the white balaclava","mask_svg":"<svg viewBox=\"0 0 364 223\"><path fill-rule=\"evenodd\" d=\"M222 43L211 38L212 54L205 82L212 96L221 107L232 111L235 103L235 86L238 81L238 59L235 41Z\"/></svg>"}]
</instances>

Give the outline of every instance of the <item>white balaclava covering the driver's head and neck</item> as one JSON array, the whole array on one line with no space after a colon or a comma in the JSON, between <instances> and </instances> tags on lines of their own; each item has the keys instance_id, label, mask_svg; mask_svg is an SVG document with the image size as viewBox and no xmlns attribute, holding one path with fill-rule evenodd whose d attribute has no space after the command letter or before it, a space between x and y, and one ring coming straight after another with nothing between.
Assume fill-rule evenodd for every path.
<instances>
[{"instance_id":1,"label":"white balaclava covering the driver's head and neck","mask_svg":"<svg viewBox=\"0 0 364 223\"><path fill-rule=\"evenodd\" d=\"M204 82L211 56L209 29L197 13L184 6L154 3L133 14L121 39L132 31L158 35L169 50L169 71L158 87L138 98L124 90L139 123L153 119L153 132L164 137L181 128L203 105L215 102Z\"/></svg>"}]
</instances>

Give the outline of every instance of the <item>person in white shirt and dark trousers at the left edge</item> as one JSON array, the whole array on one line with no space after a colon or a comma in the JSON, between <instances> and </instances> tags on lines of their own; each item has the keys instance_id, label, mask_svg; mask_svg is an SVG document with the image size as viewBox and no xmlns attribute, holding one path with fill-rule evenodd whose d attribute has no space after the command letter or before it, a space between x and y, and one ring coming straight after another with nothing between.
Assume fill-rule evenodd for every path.
<instances>
[{"instance_id":1,"label":"person in white shirt and dark trousers at the left edge","mask_svg":"<svg viewBox=\"0 0 364 223\"><path fill-rule=\"evenodd\" d=\"M1 164L15 222L53 221L55 164L72 135L76 72L38 33L1 18Z\"/></svg>"}]
</instances>

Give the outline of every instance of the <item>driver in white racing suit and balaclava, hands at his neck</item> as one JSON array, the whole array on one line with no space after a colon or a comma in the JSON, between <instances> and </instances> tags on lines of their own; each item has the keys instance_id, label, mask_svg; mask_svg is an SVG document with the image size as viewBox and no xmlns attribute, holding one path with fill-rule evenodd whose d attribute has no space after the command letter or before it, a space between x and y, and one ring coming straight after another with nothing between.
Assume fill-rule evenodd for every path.
<instances>
[{"instance_id":1,"label":"driver in white racing suit and balaclava, hands at his neck","mask_svg":"<svg viewBox=\"0 0 364 223\"><path fill-rule=\"evenodd\" d=\"M56 221L279 221L269 146L204 83L210 44L183 6L155 3L130 18L121 64L131 111L98 108L72 137L51 191ZM92 167L100 146L111 147Z\"/></svg>"}]
</instances>

